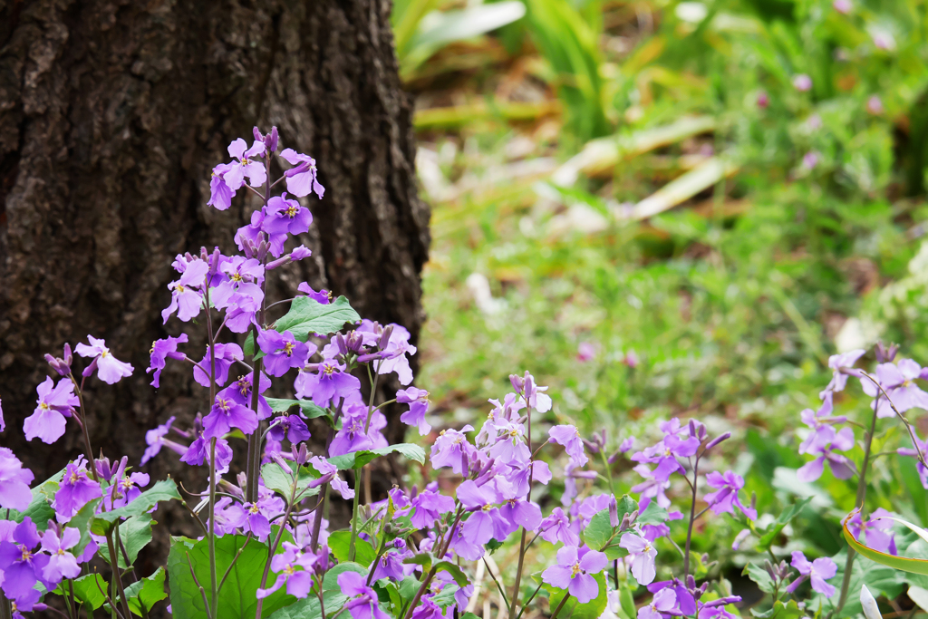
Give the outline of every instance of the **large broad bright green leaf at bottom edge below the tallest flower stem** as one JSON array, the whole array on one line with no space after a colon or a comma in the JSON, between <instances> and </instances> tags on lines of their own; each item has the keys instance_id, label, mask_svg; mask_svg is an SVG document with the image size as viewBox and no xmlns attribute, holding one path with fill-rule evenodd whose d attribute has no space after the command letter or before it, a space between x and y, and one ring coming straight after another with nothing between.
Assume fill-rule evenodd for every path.
<instances>
[{"instance_id":1,"label":"large broad bright green leaf at bottom edge below the tallest flower stem","mask_svg":"<svg viewBox=\"0 0 928 619\"><path fill-rule=\"evenodd\" d=\"M273 535L273 533L272 533ZM257 610L256 597L267 561L268 547L255 539L245 544L245 535L223 535L215 540L216 574L219 578L226 574L229 565L238 551L238 561L219 592L219 612L222 619L253 619ZM282 551L280 548L278 552ZM189 563L187 562L189 557ZM186 537L172 537L171 550L168 552L168 577L171 580L171 608L174 619L202 619L206 616L206 607L200 589L190 575L193 565L197 580L210 597L212 580L210 577L209 540L200 541ZM269 574L268 582L273 583L276 574ZM292 604L295 598L287 595L286 587L264 598L262 617L267 617L277 609Z\"/></svg>"}]
</instances>

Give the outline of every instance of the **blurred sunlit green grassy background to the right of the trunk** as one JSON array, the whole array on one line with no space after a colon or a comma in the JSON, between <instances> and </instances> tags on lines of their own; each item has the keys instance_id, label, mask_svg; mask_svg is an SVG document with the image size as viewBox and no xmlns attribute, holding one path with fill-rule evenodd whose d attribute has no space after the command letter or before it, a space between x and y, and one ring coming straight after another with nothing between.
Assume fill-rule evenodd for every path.
<instances>
[{"instance_id":1,"label":"blurred sunlit green grassy background to the right of the trunk","mask_svg":"<svg viewBox=\"0 0 928 619\"><path fill-rule=\"evenodd\" d=\"M792 430L829 355L883 340L928 358L926 9L398 0L432 205L418 384L437 428L483 419L525 369L554 419L612 450L695 417L734 432L762 513L817 496L778 552L844 548L856 482L798 483ZM868 402L854 385L839 405ZM928 522L908 459L883 458L868 497ZM696 541L736 587L738 528L715 519Z\"/></svg>"}]
</instances>

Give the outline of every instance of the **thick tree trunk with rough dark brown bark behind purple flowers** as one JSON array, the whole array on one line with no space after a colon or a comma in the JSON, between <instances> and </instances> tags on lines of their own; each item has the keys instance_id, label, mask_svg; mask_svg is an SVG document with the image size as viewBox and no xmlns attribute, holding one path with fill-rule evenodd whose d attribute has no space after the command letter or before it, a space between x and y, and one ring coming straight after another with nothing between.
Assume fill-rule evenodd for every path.
<instances>
[{"instance_id":1,"label":"thick tree trunk with rough dark brown bark behind purple flowers","mask_svg":"<svg viewBox=\"0 0 928 619\"><path fill-rule=\"evenodd\" d=\"M148 349L183 331L188 354L202 355L201 325L162 326L166 285L177 253L237 251L235 231L260 202L244 188L224 213L206 201L213 165L229 161L235 137L251 144L253 125L276 125L281 148L315 157L327 189L303 199L315 222L298 240L313 257L271 272L268 298L308 280L415 342L429 212L389 10L386 0L0 0L0 444L37 480L82 449L72 425L53 446L21 432L35 386L54 374L42 357L64 342L104 337L135 366L112 387L88 380L93 443L110 458L137 465L146 430L205 412L208 393L186 364L169 361L161 389L149 386ZM388 438L402 431L392 422ZM184 479L183 469L162 453L146 470Z\"/></svg>"}]
</instances>

